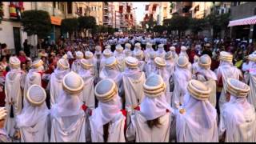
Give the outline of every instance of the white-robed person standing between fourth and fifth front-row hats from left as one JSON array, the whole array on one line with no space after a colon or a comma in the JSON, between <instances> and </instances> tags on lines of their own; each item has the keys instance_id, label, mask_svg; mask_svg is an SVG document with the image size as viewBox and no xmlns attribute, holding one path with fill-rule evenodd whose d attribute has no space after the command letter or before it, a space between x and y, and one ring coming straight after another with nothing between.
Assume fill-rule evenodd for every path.
<instances>
[{"instance_id":1,"label":"white-robed person standing between fourth and fifth front-row hats from left","mask_svg":"<svg viewBox=\"0 0 256 144\"><path fill-rule=\"evenodd\" d=\"M174 91L171 99L171 106L182 104L186 94L186 86L192 79L191 71L188 68L189 59L186 56L179 56L176 60L174 71Z\"/></svg>"}]
</instances>

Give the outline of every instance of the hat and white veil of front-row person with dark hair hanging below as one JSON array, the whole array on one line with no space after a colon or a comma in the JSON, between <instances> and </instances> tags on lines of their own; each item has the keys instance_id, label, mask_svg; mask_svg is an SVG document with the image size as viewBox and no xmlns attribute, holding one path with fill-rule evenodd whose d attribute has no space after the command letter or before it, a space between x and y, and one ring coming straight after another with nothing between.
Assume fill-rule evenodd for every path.
<instances>
[{"instance_id":1,"label":"hat and white veil of front-row person with dark hair hanging below","mask_svg":"<svg viewBox=\"0 0 256 144\"><path fill-rule=\"evenodd\" d=\"M150 77L146 79L144 89L147 87L147 89L158 91L162 89L162 87L159 87L162 85L165 86L160 75L150 74ZM174 110L170 107L170 104L166 102L166 96L163 91L154 95L154 97L145 93L146 97L142 101L141 112L146 120L153 120L155 118L161 117L162 115L166 114L166 110L174 112Z\"/></svg>"}]
</instances>

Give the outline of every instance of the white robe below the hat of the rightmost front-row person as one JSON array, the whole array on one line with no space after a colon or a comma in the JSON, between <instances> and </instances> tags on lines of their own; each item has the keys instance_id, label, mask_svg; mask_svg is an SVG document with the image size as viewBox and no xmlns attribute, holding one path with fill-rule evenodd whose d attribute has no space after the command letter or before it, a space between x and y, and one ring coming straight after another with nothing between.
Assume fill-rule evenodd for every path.
<instances>
[{"instance_id":1,"label":"white robe below the hat of the rightmost front-row person","mask_svg":"<svg viewBox=\"0 0 256 144\"><path fill-rule=\"evenodd\" d=\"M219 135L225 131L225 142L256 142L255 109L246 98L231 95L230 102L223 105Z\"/></svg>"}]
</instances>

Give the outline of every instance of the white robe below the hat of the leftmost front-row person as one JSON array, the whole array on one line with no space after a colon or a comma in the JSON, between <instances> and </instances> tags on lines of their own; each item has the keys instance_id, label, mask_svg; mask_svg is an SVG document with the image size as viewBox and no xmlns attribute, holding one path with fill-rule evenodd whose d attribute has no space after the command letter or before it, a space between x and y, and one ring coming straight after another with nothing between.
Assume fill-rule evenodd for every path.
<instances>
[{"instance_id":1,"label":"white robe below the hat of the leftmost front-row person","mask_svg":"<svg viewBox=\"0 0 256 144\"><path fill-rule=\"evenodd\" d=\"M50 110L44 102L41 106L27 106L17 117L21 142L50 141Z\"/></svg>"}]
</instances>

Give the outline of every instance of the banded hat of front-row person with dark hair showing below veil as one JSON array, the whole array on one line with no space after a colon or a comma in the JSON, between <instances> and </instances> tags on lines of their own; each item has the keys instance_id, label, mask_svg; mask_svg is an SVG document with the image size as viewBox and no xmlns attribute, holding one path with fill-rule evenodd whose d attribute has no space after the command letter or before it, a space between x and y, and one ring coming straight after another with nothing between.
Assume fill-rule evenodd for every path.
<instances>
[{"instance_id":1,"label":"banded hat of front-row person with dark hair showing below veil","mask_svg":"<svg viewBox=\"0 0 256 144\"><path fill-rule=\"evenodd\" d=\"M143 90L147 97L155 98L163 94L166 90L166 84L158 74L150 74L143 84Z\"/></svg>"}]
</instances>

